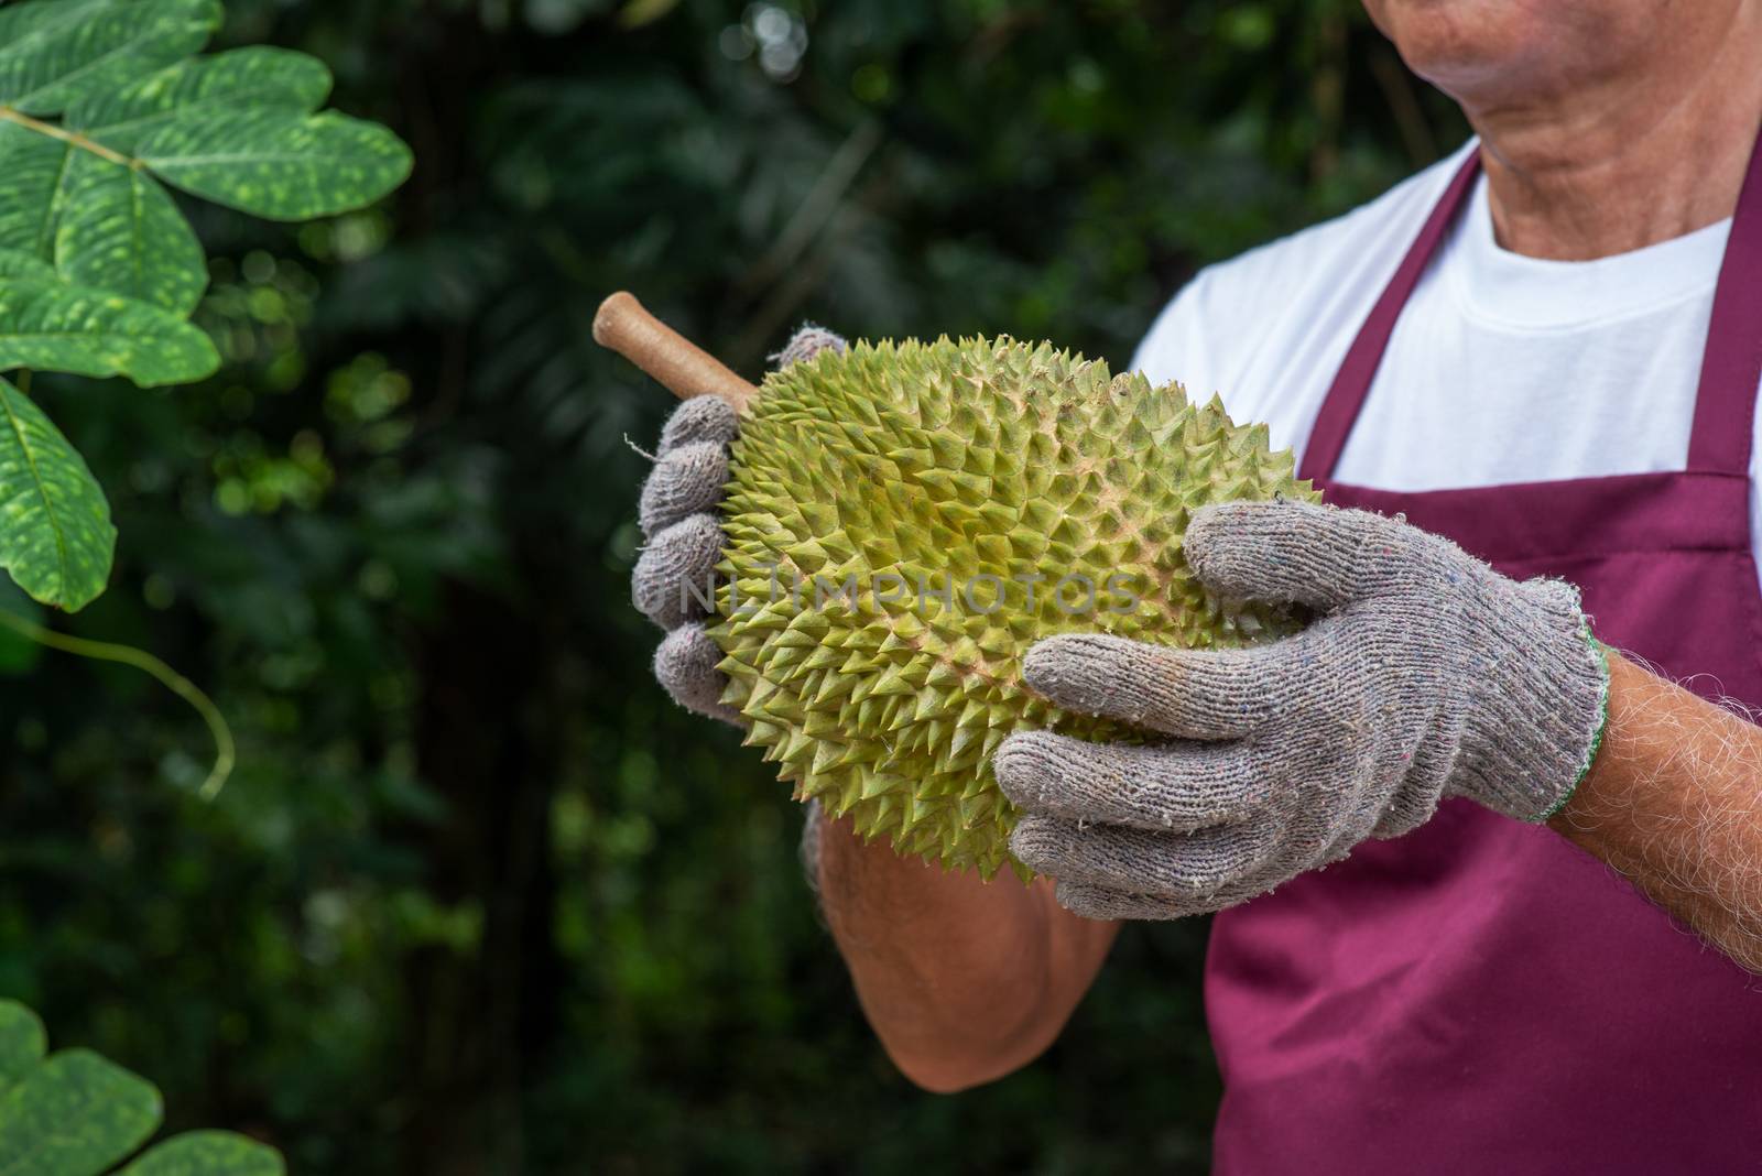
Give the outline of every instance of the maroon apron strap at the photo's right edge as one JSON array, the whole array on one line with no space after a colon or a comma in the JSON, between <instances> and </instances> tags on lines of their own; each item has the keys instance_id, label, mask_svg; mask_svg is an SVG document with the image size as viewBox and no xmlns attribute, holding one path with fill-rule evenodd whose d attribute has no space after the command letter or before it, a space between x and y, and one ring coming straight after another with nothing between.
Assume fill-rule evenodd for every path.
<instances>
[{"instance_id":1,"label":"maroon apron strap at the photo's right edge","mask_svg":"<svg viewBox=\"0 0 1762 1176\"><path fill-rule=\"evenodd\" d=\"M1688 468L1750 475L1757 386L1762 384L1762 139L1750 153L1732 236L1713 294L1707 350L1688 435Z\"/></svg>"}]
</instances>

